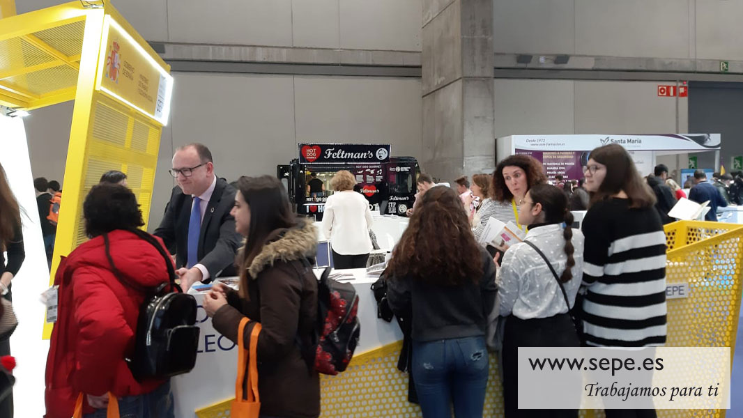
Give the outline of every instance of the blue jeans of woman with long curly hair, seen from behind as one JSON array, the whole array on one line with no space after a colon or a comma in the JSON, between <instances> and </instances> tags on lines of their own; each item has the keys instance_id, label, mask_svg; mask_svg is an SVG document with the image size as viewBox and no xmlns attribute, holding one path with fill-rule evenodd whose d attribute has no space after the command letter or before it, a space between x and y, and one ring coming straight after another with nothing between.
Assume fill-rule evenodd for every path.
<instances>
[{"instance_id":1,"label":"blue jeans of woman with long curly hair, seen from behind","mask_svg":"<svg viewBox=\"0 0 743 418\"><path fill-rule=\"evenodd\" d=\"M485 338L413 341L412 373L425 418L481 418L487 388Z\"/></svg>"}]
</instances>

